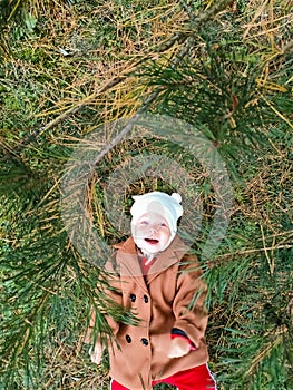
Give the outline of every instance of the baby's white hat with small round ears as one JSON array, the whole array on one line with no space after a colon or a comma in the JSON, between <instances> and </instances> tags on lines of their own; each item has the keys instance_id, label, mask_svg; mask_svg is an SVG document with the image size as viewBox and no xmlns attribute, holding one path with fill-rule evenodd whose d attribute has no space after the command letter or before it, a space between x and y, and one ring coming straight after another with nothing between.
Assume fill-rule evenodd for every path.
<instances>
[{"instance_id":1,"label":"baby's white hat with small round ears","mask_svg":"<svg viewBox=\"0 0 293 390\"><path fill-rule=\"evenodd\" d=\"M133 215L131 227L146 213L157 213L167 221L172 234L172 240L177 232L177 221L183 215L183 207L180 205L182 197L177 193L172 195L160 193L158 191L133 196L135 203L130 208Z\"/></svg>"}]
</instances>

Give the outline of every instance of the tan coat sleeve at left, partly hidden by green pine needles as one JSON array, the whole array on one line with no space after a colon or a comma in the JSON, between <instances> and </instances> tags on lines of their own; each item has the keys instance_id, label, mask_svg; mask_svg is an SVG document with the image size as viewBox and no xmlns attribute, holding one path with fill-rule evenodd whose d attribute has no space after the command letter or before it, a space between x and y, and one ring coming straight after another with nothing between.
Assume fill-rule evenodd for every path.
<instances>
[{"instance_id":1,"label":"tan coat sleeve at left, partly hidden by green pine needles","mask_svg":"<svg viewBox=\"0 0 293 390\"><path fill-rule=\"evenodd\" d=\"M121 287L120 287L120 279L118 274L114 271L114 266L111 262L108 262L106 264L106 270L109 272L109 287L105 290L105 294L107 295L107 299L109 302L115 302L117 305L123 304L123 294L121 294ZM119 331L119 322L116 322L113 316L105 313L105 318L108 322L109 328L113 331L114 337ZM90 320L89 320L89 326L86 331L86 335L84 339L85 343L92 343L94 342L94 329L95 329L95 322L96 322L96 311L92 308Z\"/></svg>"}]
</instances>

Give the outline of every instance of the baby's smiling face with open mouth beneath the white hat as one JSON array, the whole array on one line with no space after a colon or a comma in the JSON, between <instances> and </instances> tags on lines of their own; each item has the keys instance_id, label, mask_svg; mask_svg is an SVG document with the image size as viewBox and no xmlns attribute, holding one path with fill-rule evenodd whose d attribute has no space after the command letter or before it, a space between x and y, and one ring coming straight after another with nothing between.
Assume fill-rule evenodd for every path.
<instances>
[{"instance_id":1,"label":"baby's smiling face with open mouth beneath the white hat","mask_svg":"<svg viewBox=\"0 0 293 390\"><path fill-rule=\"evenodd\" d=\"M169 238L168 223L157 213L150 212L141 215L134 226L136 245L150 254L165 250Z\"/></svg>"}]
</instances>

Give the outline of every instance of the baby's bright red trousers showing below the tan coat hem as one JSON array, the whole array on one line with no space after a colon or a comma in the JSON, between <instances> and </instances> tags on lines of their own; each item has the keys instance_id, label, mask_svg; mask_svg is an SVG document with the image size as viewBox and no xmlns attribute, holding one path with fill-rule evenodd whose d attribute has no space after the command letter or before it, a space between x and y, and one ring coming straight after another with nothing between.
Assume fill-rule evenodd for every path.
<instances>
[{"instance_id":1,"label":"baby's bright red trousers showing below the tan coat hem","mask_svg":"<svg viewBox=\"0 0 293 390\"><path fill-rule=\"evenodd\" d=\"M195 367L187 371L176 372L174 376L158 381L153 381L152 384L168 383L176 386L178 390L216 390L216 382L208 370L207 364ZM111 390L130 390L116 382L111 381Z\"/></svg>"}]
</instances>

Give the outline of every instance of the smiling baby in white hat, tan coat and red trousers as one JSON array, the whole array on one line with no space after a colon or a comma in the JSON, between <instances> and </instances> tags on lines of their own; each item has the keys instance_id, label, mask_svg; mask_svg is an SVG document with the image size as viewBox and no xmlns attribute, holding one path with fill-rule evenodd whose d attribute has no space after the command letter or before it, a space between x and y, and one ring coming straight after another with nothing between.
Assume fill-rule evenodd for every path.
<instances>
[{"instance_id":1,"label":"smiling baby in white hat, tan coat and red trousers","mask_svg":"<svg viewBox=\"0 0 293 390\"><path fill-rule=\"evenodd\" d=\"M116 339L109 347L110 389L150 390L162 382L179 390L216 389L206 364L206 285L196 257L176 235L180 195L152 192L134 201L131 237L116 246L115 264L107 267L114 272L110 298L139 322L107 318ZM94 322L92 314L87 342ZM101 352L97 342L90 351L97 364Z\"/></svg>"}]
</instances>

